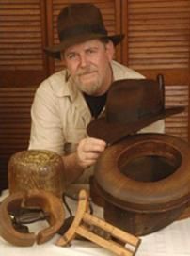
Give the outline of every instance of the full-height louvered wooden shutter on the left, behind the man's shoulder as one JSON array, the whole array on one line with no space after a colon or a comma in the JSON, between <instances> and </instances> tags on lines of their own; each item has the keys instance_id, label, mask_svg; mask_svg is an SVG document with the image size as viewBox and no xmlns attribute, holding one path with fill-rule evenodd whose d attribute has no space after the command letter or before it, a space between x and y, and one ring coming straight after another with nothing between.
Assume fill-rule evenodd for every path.
<instances>
[{"instance_id":1,"label":"full-height louvered wooden shutter on the left, behind the man's shoulder","mask_svg":"<svg viewBox=\"0 0 190 256\"><path fill-rule=\"evenodd\" d=\"M8 159L26 150L30 106L46 76L44 0L0 1L0 189L8 187ZM35 85L35 87L33 87Z\"/></svg>"}]
</instances>

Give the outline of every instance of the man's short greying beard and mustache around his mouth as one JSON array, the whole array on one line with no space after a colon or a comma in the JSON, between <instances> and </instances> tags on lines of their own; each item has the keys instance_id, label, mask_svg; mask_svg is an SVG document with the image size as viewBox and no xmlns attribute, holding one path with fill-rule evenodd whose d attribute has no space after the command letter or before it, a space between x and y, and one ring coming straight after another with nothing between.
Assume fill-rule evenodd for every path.
<instances>
[{"instance_id":1,"label":"man's short greying beard and mustache around his mouth","mask_svg":"<svg viewBox=\"0 0 190 256\"><path fill-rule=\"evenodd\" d=\"M102 87L100 75L96 67L87 66L87 68L80 69L71 76L77 88L87 95L96 95Z\"/></svg>"}]
</instances>

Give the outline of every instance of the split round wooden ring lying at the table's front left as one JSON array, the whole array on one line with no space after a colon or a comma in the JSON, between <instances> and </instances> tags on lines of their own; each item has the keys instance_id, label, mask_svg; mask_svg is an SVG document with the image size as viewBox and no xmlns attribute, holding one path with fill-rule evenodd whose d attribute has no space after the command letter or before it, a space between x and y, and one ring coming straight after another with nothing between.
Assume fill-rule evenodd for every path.
<instances>
[{"instance_id":1,"label":"split round wooden ring lying at the table's front left","mask_svg":"<svg viewBox=\"0 0 190 256\"><path fill-rule=\"evenodd\" d=\"M12 226L8 211L14 212L19 210L21 206L40 207L44 212L48 213L50 226L40 231L37 236L33 232L17 232ZM17 192L8 196L0 205L0 234L5 240L16 246L28 247L35 242L42 244L52 238L55 232L60 229L64 222L64 217L61 200L52 193L43 190L31 190L28 193Z\"/></svg>"}]
</instances>

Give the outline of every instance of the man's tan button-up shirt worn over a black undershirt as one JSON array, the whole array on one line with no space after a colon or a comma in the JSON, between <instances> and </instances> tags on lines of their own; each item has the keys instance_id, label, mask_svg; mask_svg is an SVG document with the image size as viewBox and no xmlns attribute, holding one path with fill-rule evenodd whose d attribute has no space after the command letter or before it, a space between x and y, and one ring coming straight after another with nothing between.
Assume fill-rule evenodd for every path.
<instances>
[{"instance_id":1,"label":"man's tan button-up shirt worn over a black undershirt","mask_svg":"<svg viewBox=\"0 0 190 256\"><path fill-rule=\"evenodd\" d=\"M114 80L143 78L116 61L112 62ZM91 113L82 93L67 81L67 71L56 72L40 84L31 108L32 126L29 149L46 149L66 154L87 137ZM164 132L164 120L141 132Z\"/></svg>"}]
</instances>

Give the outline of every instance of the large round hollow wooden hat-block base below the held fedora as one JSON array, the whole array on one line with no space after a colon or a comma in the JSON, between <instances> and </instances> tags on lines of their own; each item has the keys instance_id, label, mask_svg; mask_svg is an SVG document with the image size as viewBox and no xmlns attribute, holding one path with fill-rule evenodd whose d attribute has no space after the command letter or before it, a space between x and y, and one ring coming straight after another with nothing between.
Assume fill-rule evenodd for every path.
<instances>
[{"instance_id":1,"label":"large round hollow wooden hat-block base below the held fedora","mask_svg":"<svg viewBox=\"0 0 190 256\"><path fill-rule=\"evenodd\" d=\"M107 148L95 168L105 221L141 236L189 216L190 147L175 136L139 134ZM98 200L98 195L103 200Z\"/></svg>"}]
</instances>

